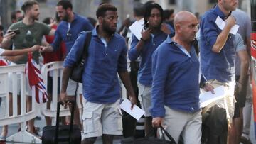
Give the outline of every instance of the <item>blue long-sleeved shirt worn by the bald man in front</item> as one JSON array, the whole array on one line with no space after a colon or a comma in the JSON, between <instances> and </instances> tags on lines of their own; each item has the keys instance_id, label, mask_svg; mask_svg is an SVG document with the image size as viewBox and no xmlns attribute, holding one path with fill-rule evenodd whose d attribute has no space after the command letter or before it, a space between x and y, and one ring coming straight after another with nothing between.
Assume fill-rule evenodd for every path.
<instances>
[{"instance_id":1,"label":"blue long-sleeved shirt worn by the bald man in front","mask_svg":"<svg viewBox=\"0 0 256 144\"><path fill-rule=\"evenodd\" d=\"M200 83L206 79L193 46L188 52L168 37L152 55L152 76L153 117L164 117L164 106L189 113L200 109Z\"/></svg>"}]
</instances>

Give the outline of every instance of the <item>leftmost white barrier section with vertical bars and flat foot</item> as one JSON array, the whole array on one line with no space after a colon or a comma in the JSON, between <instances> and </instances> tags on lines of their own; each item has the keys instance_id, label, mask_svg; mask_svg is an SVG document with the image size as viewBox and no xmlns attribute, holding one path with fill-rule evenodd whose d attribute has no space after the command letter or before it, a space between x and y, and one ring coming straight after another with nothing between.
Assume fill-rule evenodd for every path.
<instances>
[{"instance_id":1,"label":"leftmost white barrier section with vertical bars and flat foot","mask_svg":"<svg viewBox=\"0 0 256 144\"><path fill-rule=\"evenodd\" d=\"M14 123L21 123L21 131L6 138L6 141L15 143L41 143L41 140L35 135L26 131L26 121L31 120L37 116L38 104L36 104L35 97L32 96L32 108L31 111L26 112L26 74L25 65L12 65L0 67L0 97L5 101L2 104L5 105L5 116L0 118L0 126L11 125ZM9 74L12 79L12 116L9 115ZM20 83L20 86L18 86ZM17 88L21 89L21 92L17 92ZM20 106L21 113L18 114L18 95L21 96ZM1 113L4 111L1 111Z\"/></svg>"}]
</instances>

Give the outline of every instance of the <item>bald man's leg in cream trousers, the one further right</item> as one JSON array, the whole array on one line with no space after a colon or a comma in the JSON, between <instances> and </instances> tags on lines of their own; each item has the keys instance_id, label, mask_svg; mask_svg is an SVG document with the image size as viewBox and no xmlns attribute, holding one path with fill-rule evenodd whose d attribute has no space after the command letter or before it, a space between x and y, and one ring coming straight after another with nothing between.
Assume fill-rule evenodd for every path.
<instances>
[{"instance_id":1,"label":"bald man's leg in cream trousers, the one further right","mask_svg":"<svg viewBox=\"0 0 256 144\"><path fill-rule=\"evenodd\" d=\"M201 111L198 111L196 113L188 113L188 116L188 123L186 123L186 126L183 129L182 133L184 143L201 144Z\"/></svg>"}]
</instances>

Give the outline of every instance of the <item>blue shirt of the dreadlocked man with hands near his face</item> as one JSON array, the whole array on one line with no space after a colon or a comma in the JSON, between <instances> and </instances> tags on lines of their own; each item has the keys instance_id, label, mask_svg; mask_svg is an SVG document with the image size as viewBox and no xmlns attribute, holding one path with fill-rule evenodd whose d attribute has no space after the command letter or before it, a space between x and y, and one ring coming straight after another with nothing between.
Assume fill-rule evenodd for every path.
<instances>
[{"instance_id":1,"label":"blue shirt of the dreadlocked man with hands near his face","mask_svg":"<svg viewBox=\"0 0 256 144\"><path fill-rule=\"evenodd\" d=\"M152 74L151 74L151 56L156 48L166 40L167 34L163 31L159 31L155 35L151 35L149 40L144 43L144 46L140 52L136 50L136 45L139 40L132 35L131 49L128 52L129 60L137 60L141 57L141 62L139 63L138 71L138 82L146 86L151 87Z\"/></svg>"}]
</instances>

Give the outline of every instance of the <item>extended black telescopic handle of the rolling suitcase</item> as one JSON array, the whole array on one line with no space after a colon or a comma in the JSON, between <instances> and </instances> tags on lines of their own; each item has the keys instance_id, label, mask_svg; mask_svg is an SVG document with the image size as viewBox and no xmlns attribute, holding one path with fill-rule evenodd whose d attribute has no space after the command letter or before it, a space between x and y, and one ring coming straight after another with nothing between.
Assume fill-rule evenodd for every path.
<instances>
[{"instance_id":1,"label":"extended black telescopic handle of the rolling suitcase","mask_svg":"<svg viewBox=\"0 0 256 144\"><path fill-rule=\"evenodd\" d=\"M71 118L70 118L70 131L69 131L69 143L71 143L71 133L73 131L73 120L74 120L74 111L75 111L75 101L68 100L71 103ZM62 101L58 101L57 104L57 116L56 116L56 128L55 128L55 143L58 143L58 128L60 123L60 105L63 105Z\"/></svg>"}]
</instances>

